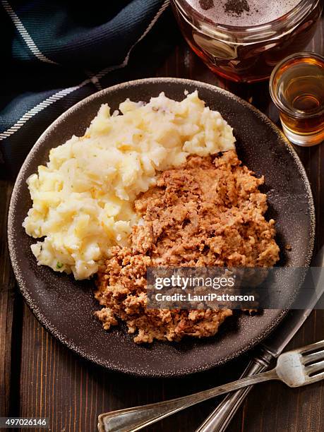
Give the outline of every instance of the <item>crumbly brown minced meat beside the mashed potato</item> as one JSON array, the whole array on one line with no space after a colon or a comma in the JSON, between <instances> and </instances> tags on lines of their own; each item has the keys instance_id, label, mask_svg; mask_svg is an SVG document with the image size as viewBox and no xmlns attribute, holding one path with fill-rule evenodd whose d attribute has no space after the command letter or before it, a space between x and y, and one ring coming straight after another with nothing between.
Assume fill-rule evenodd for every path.
<instances>
[{"instance_id":1,"label":"crumbly brown minced meat beside the mashed potato","mask_svg":"<svg viewBox=\"0 0 324 432\"><path fill-rule=\"evenodd\" d=\"M265 220L267 197L236 152L188 157L160 174L157 185L135 202L143 224L131 246L116 246L100 268L96 299L104 329L124 320L135 342L179 341L215 335L232 315L219 310L152 310L146 305L146 270L172 267L270 267L279 259L275 221Z\"/></svg>"}]
</instances>

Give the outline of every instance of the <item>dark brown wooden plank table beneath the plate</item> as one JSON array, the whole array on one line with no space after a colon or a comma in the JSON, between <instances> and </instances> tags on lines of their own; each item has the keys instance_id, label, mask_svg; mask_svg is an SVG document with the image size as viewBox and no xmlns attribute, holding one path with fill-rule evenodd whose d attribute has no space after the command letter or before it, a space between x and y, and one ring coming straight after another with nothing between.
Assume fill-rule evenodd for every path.
<instances>
[{"instance_id":1,"label":"dark brown wooden plank table beneath the plate","mask_svg":"<svg viewBox=\"0 0 324 432\"><path fill-rule=\"evenodd\" d=\"M309 47L324 54L323 22ZM214 76L184 42L156 73L214 83L251 102L272 120L268 83L239 85ZM324 148L296 148L311 181L316 203L316 247L324 243ZM0 174L0 415L46 416L54 432L96 431L97 415L112 409L167 400L239 377L248 355L196 376L144 379L124 376L80 359L37 322L16 288L6 244L6 213L12 182ZM322 222L320 219L322 218ZM324 311L313 311L289 344L302 346L324 336ZM165 419L150 431L194 431L215 407L211 400ZM29 429L28 429L29 430ZM36 429L32 429L35 431ZM44 430L44 429L42 429ZM229 432L324 431L324 382L292 390L281 383L253 389Z\"/></svg>"}]
</instances>

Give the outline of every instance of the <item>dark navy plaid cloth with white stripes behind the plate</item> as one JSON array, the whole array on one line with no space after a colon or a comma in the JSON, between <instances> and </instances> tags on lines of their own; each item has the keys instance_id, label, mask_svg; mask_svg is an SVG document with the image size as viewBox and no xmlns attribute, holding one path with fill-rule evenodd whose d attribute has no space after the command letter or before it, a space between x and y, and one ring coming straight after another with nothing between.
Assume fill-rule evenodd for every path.
<instances>
[{"instance_id":1,"label":"dark navy plaid cloth with white stripes behind the plate","mask_svg":"<svg viewBox=\"0 0 324 432\"><path fill-rule=\"evenodd\" d=\"M154 76L179 36L164 0L1 0L0 8L0 169L13 175L59 114L109 85Z\"/></svg>"}]
</instances>

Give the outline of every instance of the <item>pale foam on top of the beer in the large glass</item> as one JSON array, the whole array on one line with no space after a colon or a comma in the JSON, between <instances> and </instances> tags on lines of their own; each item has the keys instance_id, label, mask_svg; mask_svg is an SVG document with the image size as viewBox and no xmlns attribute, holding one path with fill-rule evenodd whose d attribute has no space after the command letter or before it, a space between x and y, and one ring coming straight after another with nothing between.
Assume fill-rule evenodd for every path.
<instances>
[{"instance_id":1,"label":"pale foam on top of the beer in the large glass","mask_svg":"<svg viewBox=\"0 0 324 432\"><path fill-rule=\"evenodd\" d=\"M301 0L187 0L198 13L217 24L251 26L269 23Z\"/></svg>"}]
</instances>

